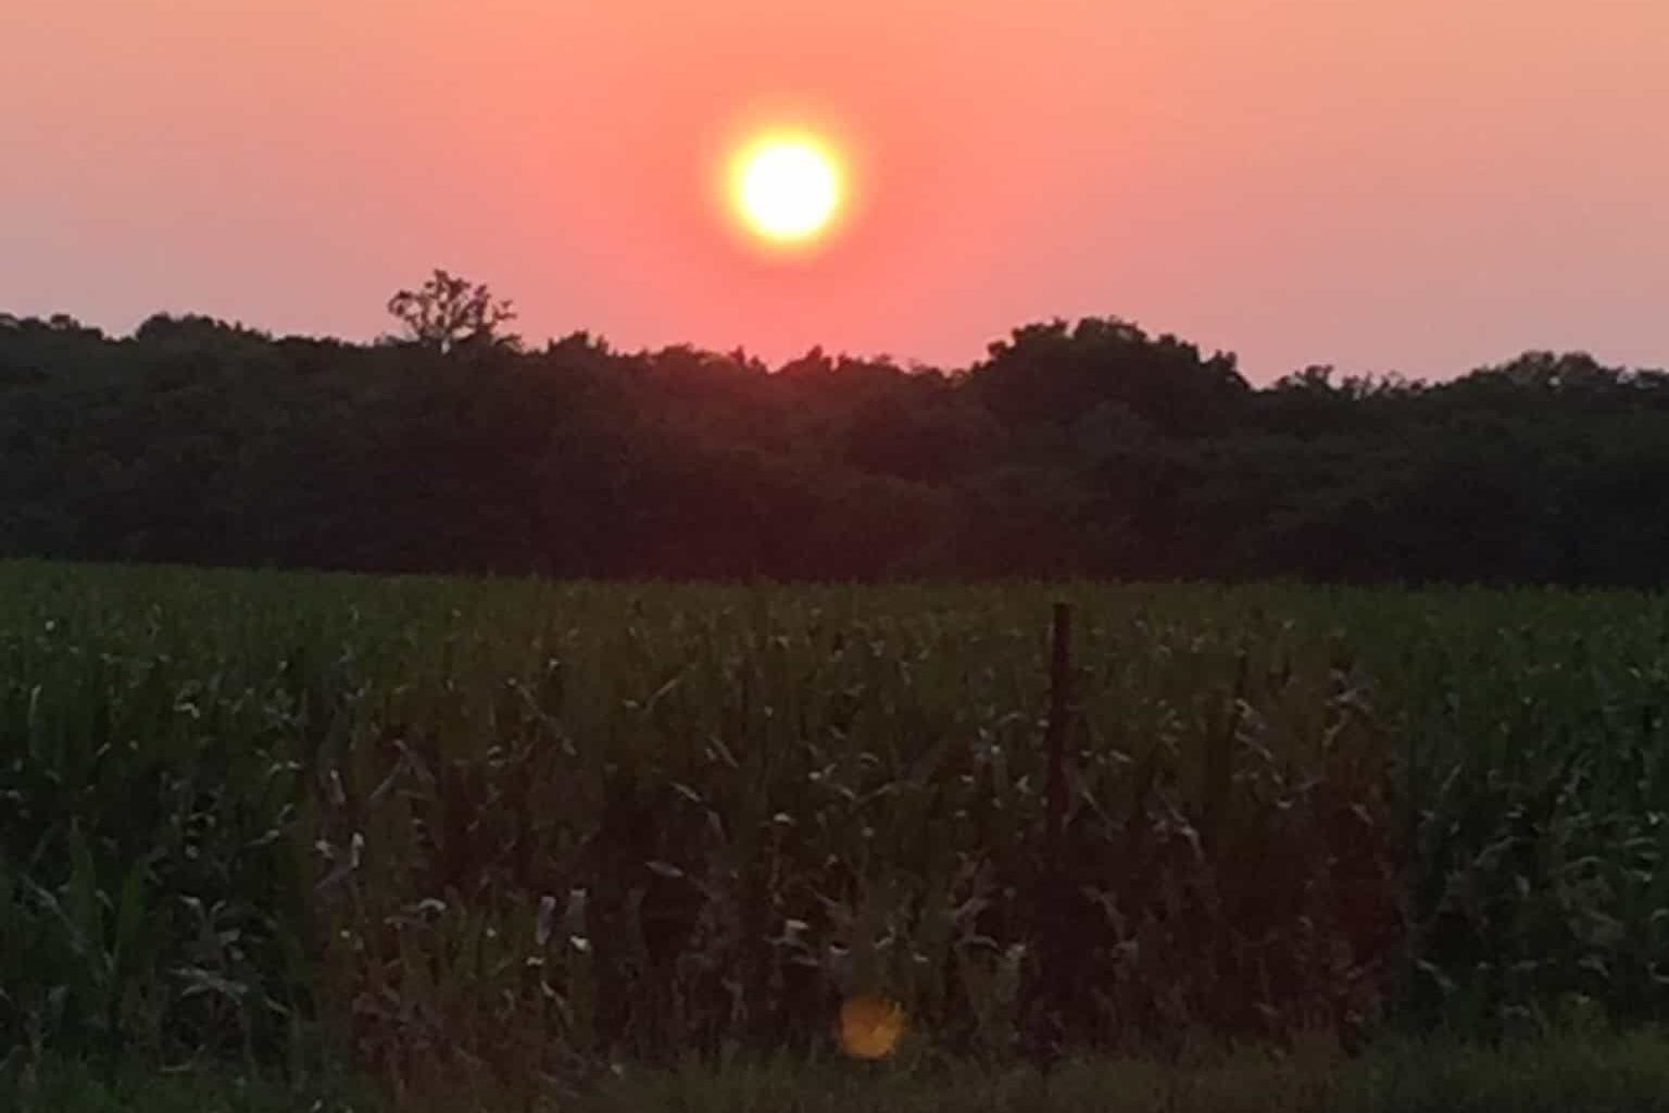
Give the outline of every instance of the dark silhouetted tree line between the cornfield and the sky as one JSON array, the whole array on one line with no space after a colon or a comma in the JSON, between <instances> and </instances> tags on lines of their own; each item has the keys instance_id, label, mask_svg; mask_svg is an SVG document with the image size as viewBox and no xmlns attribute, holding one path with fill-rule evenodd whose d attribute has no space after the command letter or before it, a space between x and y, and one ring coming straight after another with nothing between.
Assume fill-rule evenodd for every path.
<instances>
[{"instance_id":1,"label":"dark silhouetted tree line between the cornfield and the sky","mask_svg":"<svg viewBox=\"0 0 1669 1113\"><path fill-rule=\"evenodd\" d=\"M446 272L374 344L0 314L0 556L556 577L1654 586L1669 374L1527 352L1442 382L1117 317L965 369L531 349Z\"/></svg>"}]
</instances>

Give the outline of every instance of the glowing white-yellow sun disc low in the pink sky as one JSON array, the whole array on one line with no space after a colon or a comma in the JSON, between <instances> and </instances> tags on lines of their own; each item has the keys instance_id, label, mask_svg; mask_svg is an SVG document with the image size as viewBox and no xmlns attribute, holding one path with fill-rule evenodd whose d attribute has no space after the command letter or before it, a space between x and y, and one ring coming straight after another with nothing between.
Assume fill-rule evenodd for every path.
<instances>
[{"instance_id":1,"label":"glowing white-yellow sun disc low in the pink sky","mask_svg":"<svg viewBox=\"0 0 1669 1113\"><path fill-rule=\"evenodd\" d=\"M840 157L813 135L763 135L731 162L736 215L768 244L808 245L828 234L846 194Z\"/></svg>"}]
</instances>

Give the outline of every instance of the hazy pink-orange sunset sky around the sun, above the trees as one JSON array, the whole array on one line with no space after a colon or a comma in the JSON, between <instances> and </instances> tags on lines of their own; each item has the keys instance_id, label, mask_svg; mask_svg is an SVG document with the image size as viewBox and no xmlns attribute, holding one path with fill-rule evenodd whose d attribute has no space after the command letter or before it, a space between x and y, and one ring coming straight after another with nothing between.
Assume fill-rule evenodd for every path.
<instances>
[{"instance_id":1,"label":"hazy pink-orange sunset sky around the sun, above the trees","mask_svg":"<svg viewBox=\"0 0 1669 1113\"><path fill-rule=\"evenodd\" d=\"M0 309L113 332L369 339L449 267L536 342L1669 364L1669 0L3 0L0 42ZM793 264L711 185L776 120L861 190Z\"/></svg>"}]
</instances>

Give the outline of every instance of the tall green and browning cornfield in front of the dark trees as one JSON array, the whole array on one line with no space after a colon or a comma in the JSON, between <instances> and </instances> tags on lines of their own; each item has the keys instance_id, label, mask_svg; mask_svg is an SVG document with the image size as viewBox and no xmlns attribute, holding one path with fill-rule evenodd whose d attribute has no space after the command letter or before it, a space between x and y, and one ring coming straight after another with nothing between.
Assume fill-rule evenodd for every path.
<instances>
[{"instance_id":1,"label":"tall green and browning cornfield in front of the dark trees","mask_svg":"<svg viewBox=\"0 0 1669 1113\"><path fill-rule=\"evenodd\" d=\"M853 1000L908 1056L1662 1021L1666 714L1637 594L0 564L0 1048L404 1088L834 1055Z\"/></svg>"}]
</instances>

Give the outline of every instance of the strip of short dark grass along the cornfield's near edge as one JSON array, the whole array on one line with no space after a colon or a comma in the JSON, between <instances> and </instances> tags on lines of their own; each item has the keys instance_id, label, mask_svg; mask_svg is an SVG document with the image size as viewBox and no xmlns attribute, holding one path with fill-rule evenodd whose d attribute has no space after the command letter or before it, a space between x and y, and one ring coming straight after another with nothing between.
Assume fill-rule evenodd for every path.
<instances>
[{"instance_id":1,"label":"strip of short dark grass along the cornfield's near edge","mask_svg":"<svg viewBox=\"0 0 1669 1113\"><path fill-rule=\"evenodd\" d=\"M367 1088L249 1081L234 1073L92 1078L48 1061L17 1113L384 1113ZM0 1095L3 1096L3 1095ZM1566 1033L1485 1050L1390 1041L1360 1058L1324 1046L1240 1051L1198 1063L1083 1058L1028 1068L738 1061L621 1070L579 1093L431 1091L406 1110L457 1113L1659 1113L1669 1110L1669 1035Z\"/></svg>"}]
</instances>

